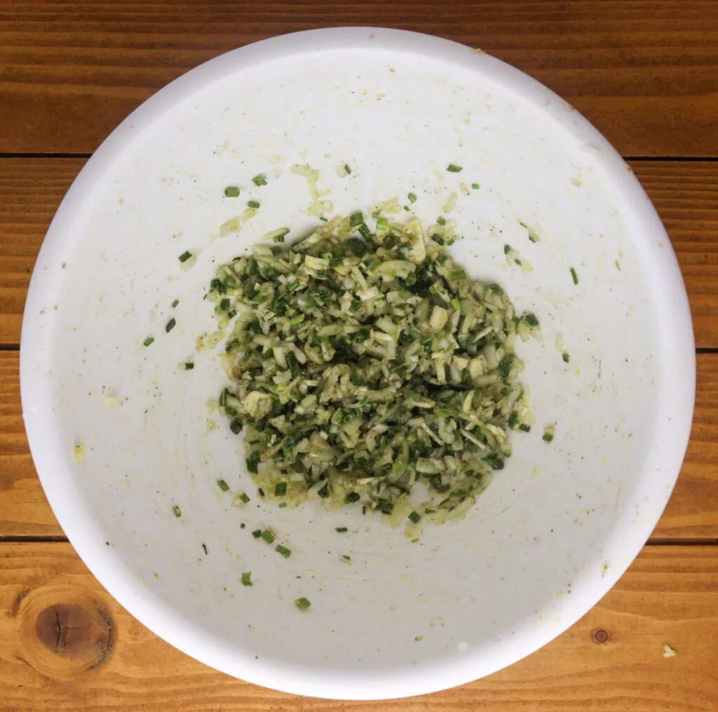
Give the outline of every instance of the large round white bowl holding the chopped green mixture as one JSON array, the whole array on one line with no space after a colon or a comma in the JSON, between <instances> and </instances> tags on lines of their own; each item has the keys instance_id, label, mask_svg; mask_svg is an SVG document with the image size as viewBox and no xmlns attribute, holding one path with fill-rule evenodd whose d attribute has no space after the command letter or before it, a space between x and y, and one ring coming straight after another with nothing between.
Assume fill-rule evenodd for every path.
<instances>
[{"instance_id":1,"label":"large round white bowl holding the chopped green mixture","mask_svg":"<svg viewBox=\"0 0 718 712\"><path fill-rule=\"evenodd\" d=\"M288 170L304 162L320 169L338 213L411 190L428 223L456 191L452 217L467 238L452 248L457 259L541 320L544 341L519 351L536 427L513 436L508 466L465 519L426 527L416 544L359 510L261 504L241 438L205 410L225 382L217 359L197 353L193 371L178 368L212 328L202 295L215 265L273 228L297 234L316 222L306 182ZM447 172L449 162L463 171ZM352 174L342 178L344 163ZM269 185L253 186L259 172ZM480 189L463 195L461 182ZM241 198L223 198L226 185L240 185ZM218 237L248 198L261 200L258 216L238 236ZM528 241L519 221L541 241ZM510 266L505 244L533 272ZM187 273L177 260L185 249L202 250ZM167 334L170 315L177 327ZM146 336L156 339L149 348ZM243 47L123 121L48 231L21 371L52 509L131 614L230 675L356 699L488 675L588 611L671 494L695 382L676 258L612 147L518 70L387 29ZM251 504L230 507L219 477ZM291 558L253 539L260 525L279 532ZM348 534L335 532L342 525ZM252 588L241 586L244 571ZM312 609L298 611L299 596Z\"/></svg>"}]
</instances>

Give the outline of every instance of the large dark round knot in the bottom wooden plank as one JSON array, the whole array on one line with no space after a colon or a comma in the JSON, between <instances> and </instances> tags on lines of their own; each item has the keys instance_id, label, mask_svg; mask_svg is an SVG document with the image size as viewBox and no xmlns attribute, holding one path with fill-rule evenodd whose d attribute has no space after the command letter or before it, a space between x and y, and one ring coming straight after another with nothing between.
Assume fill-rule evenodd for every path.
<instances>
[{"instance_id":1,"label":"large dark round knot in the bottom wooden plank","mask_svg":"<svg viewBox=\"0 0 718 712\"><path fill-rule=\"evenodd\" d=\"M107 607L93 593L68 591L66 586L54 589L39 588L24 601L19 629L22 652L45 675L73 678L108 659L115 627Z\"/></svg>"}]
</instances>

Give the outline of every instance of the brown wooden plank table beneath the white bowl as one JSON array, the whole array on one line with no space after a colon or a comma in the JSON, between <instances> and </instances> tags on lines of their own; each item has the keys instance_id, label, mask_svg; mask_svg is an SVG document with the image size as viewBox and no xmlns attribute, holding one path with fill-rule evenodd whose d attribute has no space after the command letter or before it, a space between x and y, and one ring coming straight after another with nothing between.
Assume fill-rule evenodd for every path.
<instances>
[{"instance_id":1,"label":"brown wooden plank table beneath the white bowl","mask_svg":"<svg viewBox=\"0 0 718 712\"><path fill-rule=\"evenodd\" d=\"M126 114L215 55L274 34L383 24L528 72L622 152L661 213L693 311L698 394L676 490L605 598L544 649L462 688L337 703L227 678L98 585L45 501L18 344L62 195ZM718 2L0 1L0 709L718 711ZM676 651L663 657L663 645Z\"/></svg>"}]
</instances>

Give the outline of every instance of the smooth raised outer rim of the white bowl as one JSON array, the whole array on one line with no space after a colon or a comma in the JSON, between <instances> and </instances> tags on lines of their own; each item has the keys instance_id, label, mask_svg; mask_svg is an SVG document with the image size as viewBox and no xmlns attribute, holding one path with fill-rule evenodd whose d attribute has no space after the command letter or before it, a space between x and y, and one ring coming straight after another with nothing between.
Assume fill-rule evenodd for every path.
<instances>
[{"instance_id":1,"label":"smooth raised outer rim of the white bowl","mask_svg":"<svg viewBox=\"0 0 718 712\"><path fill-rule=\"evenodd\" d=\"M623 159L587 119L538 81L480 50L472 50L432 35L381 27L332 27L271 37L220 55L169 83L122 121L88 160L52 220L37 264L49 262L57 254L67 239L67 228L73 216L83 207L92 186L101 180L123 149L165 111L200 88L240 68L251 68L278 57L320 50L393 50L414 53L455 63L498 80L523 99L541 106L543 111L554 116L585 143L599 149L597 159L602 167L620 185L621 190L631 193L634 201L633 218L645 226L645 233L655 243L654 247L663 242L663 249L654 250L652 255L666 294L666 322L671 325L673 332L673 341L663 344L663 359L672 368L682 369L679 372L685 374L686 383L691 387L682 392L662 394L661 409L666 409L663 412L672 409L676 415L670 430L661 430L657 426L655 449L661 450L663 459L667 458L669 465L656 472L656 482L651 485L655 495L652 516L642 517L640 522L633 522L630 528L628 519L615 524L604 547L605 552L615 553L610 571L602 578L592 578L577 586L573 596L564 596L557 604L559 615L554 620L544 621L540 627L534 621L523 621L515 627L515 634L510 640L497 642L493 646L491 655L486 655L485 651L481 655L479 651L471 651L459 657L444 658L431 666L365 671L332 670L330 667L304 667L269 659L256 660L253 655L240 652L216 639L180 612L167 606L156 593L127 570L118 556L105 547L92 512L78 511L73 477L69 471L57 467L53 455L60 451L60 443L48 443L45 424L50 414L26 410L27 403L37 395L39 389L29 367L33 359L39 358L40 353L39 331L34 315L42 308L42 282L45 278L37 267L29 285L22 324L20 384L23 417L38 476L68 539L108 593L157 636L206 665L267 688L332 699L401 698L462 685L521 660L571 627L623 575L640 552L668 502L688 444L695 393L694 337L683 278L665 228Z\"/></svg>"}]
</instances>

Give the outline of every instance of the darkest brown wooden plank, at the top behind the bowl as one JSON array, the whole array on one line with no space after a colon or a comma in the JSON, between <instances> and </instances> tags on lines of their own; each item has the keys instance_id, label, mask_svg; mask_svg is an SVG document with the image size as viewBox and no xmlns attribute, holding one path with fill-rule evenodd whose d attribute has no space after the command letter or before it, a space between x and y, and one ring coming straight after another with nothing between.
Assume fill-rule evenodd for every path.
<instances>
[{"instance_id":1,"label":"darkest brown wooden plank, at the top behind the bowl","mask_svg":"<svg viewBox=\"0 0 718 712\"><path fill-rule=\"evenodd\" d=\"M0 3L0 152L92 152L192 67L302 29L440 34L549 85L625 155L718 154L712 0Z\"/></svg>"}]
</instances>

